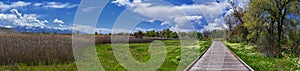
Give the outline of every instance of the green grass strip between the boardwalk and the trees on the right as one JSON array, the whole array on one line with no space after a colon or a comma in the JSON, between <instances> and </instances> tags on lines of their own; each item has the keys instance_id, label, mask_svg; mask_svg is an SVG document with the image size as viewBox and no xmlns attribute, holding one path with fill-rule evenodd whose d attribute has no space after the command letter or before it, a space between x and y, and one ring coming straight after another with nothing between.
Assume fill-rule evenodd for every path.
<instances>
[{"instance_id":1,"label":"green grass strip between the boardwalk and the trees on the right","mask_svg":"<svg viewBox=\"0 0 300 71\"><path fill-rule=\"evenodd\" d=\"M253 45L229 42L225 42L225 44L255 71L300 70L300 57L268 57L257 52Z\"/></svg>"}]
</instances>

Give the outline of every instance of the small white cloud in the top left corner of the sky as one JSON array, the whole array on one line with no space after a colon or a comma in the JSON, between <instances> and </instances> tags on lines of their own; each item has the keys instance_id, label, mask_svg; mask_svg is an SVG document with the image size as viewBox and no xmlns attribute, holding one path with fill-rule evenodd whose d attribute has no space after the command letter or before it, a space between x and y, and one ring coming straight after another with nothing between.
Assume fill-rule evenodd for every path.
<instances>
[{"instance_id":1,"label":"small white cloud in the top left corner of the sky","mask_svg":"<svg viewBox=\"0 0 300 71\"><path fill-rule=\"evenodd\" d=\"M31 4L30 2L24 2L24 1L17 1L17 2L12 2L10 4L5 4L4 2L0 1L0 10L6 11L12 8L25 7L30 4Z\"/></svg>"}]
</instances>

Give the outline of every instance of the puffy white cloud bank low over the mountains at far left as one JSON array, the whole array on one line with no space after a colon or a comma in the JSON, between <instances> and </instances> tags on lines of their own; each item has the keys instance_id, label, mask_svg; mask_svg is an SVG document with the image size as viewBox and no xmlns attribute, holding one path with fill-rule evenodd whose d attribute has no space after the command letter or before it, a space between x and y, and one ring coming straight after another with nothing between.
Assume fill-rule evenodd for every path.
<instances>
[{"instance_id":1,"label":"puffy white cloud bank low over the mountains at far left","mask_svg":"<svg viewBox=\"0 0 300 71\"><path fill-rule=\"evenodd\" d=\"M72 26L62 26L64 23L62 20L57 19L56 22L60 23L60 27L47 26L48 20L38 19L37 14L22 14L17 9L11 9L11 13L4 14L0 13L0 27L14 28L14 27L25 27L32 29L35 27L49 28L56 30L73 30Z\"/></svg>"}]
</instances>

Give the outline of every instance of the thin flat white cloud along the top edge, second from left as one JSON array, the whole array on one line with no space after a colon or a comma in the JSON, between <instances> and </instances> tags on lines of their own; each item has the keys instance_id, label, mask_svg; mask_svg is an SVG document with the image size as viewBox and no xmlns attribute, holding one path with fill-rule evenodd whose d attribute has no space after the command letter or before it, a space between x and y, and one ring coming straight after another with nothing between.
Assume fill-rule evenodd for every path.
<instances>
[{"instance_id":1,"label":"thin flat white cloud along the top edge, second from left","mask_svg":"<svg viewBox=\"0 0 300 71\"><path fill-rule=\"evenodd\" d=\"M74 8L77 7L77 4L71 3L60 3L60 2L47 2L43 7L45 8Z\"/></svg>"}]
</instances>

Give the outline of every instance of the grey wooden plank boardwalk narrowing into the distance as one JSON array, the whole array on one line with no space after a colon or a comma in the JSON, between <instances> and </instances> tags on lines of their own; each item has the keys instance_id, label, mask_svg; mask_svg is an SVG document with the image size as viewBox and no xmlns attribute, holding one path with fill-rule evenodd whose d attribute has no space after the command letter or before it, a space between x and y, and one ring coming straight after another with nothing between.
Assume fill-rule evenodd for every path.
<instances>
[{"instance_id":1,"label":"grey wooden plank boardwalk narrowing into the distance","mask_svg":"<svg viewBox=\"0 0 300 71\"><path fill-rule=\"evenodd\" d=\"M251 71L252 69L231 52L221 41L214 41L211 47L186 70Z\"/></svg>"}]
</instances>

